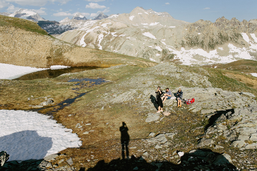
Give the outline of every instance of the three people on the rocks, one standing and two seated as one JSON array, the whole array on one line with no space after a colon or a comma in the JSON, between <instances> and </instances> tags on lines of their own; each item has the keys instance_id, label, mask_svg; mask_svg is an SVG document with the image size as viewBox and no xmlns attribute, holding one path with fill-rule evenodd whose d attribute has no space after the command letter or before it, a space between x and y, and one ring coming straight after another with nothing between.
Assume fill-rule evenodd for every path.
<instances>
[{"instance_id":1,"label":"three people on the rocks, one standing and two seated","mask_svg":"<svg viewBox=\"0 0 257 171\"><path fill-rule=\"evenodd\" d=\"M157 104L158 104L158 111L156 113L160 113L162 112L162 107L163 107L163 102L166 100L166 99L171 99L171 91L169 88L166 88L166 92L162 92L162 90L160 89L160 86L157 87L157 90L155 91L156 93L156 99L157 99ZM177 107L181 107L181 103L183 101L182 99L182 94L183 92L181 91L181 88L178 89L177 93L176 93L176 96L177 96Z\"/></svg>"}]
</instances>

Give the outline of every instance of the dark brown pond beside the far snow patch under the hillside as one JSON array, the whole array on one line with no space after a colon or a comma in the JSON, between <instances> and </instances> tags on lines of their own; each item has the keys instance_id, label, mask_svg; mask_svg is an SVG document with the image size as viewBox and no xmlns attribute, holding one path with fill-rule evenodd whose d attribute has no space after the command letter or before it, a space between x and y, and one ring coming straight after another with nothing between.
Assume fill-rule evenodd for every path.
<instances>
[{"instance_id":1,"label":"dark brown pond beside the far snow patch under the hillside","mask_svg":"<svg viewBox=\"0 0 257 171\"><path fill-rule=\"evenodd\" d=\"M80 72L80 71L93 70L98 68L99 67L70 67L70 68L62 68L62 69L55 69L55 70L49 69L49 70L32 72L24 76L21 76L19 78L16 78L14 80L35 80L35 79L41 79L41 78L55 78L65 73Z\"/></svg>"}]
</instances>

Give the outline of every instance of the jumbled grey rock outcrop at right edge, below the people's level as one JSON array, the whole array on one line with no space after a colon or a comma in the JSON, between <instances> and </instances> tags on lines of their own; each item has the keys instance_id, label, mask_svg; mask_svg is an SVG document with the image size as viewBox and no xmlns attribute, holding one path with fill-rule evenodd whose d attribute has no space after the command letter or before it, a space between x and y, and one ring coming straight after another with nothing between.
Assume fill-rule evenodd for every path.
<instances>
[{"instance_id":1,"label":"jumbled grey rock outcrop at right edge, below the people's level","mask_svg":"<svg viewBox=\"0 0 257 171\"><path fill-rule=\"evenodd\" d=\"M257 104L230 111L221 111L213 124L205 131L207 135L224 136L231 146L241 149L257 148Z\"/></svg>"}]
</instances>

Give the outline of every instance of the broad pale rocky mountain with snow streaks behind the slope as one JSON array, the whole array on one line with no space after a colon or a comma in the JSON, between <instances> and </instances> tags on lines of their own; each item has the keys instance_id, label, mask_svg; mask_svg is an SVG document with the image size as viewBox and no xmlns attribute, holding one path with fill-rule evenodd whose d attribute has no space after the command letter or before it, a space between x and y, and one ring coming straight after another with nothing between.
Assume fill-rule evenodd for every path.
<instances>
[{"instance_id":1,"label":"broad pale rocky mountain with snow streaks behind the slope","mask_svg":"<svg viewBox=\"0 0 257 171\"><path fill-rule=\"evenodd\" d=\"M168 13L136 7L130 13L110 15L57 38L79 46L102 49L155 62L183 64L257 60L257 20L195 23L176 20Z\"/></svg>"}]
</instances>

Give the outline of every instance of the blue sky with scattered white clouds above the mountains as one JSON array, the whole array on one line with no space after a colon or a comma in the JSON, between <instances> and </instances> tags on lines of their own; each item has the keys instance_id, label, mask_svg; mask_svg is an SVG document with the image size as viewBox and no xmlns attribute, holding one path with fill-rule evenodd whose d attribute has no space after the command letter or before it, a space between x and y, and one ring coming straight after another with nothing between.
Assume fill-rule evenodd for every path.
<instances>
[{"instance_id":1,"label":"blue sky with scattered white clouds above the mountains","mask_svg":"<svg viewBox=\"0 0 257 171\"><path fill-rule=\"evenodd\" d=\"M239 21L257 19L257 0L0 0L0 12L33 9L46 20L55 21L71 19L76 12L88 19L100 12L108 16L130 13L137 6L167 12L175 19L191 23L200 19L215 22L222 16Z\"/></svg>"}]
</instances>

